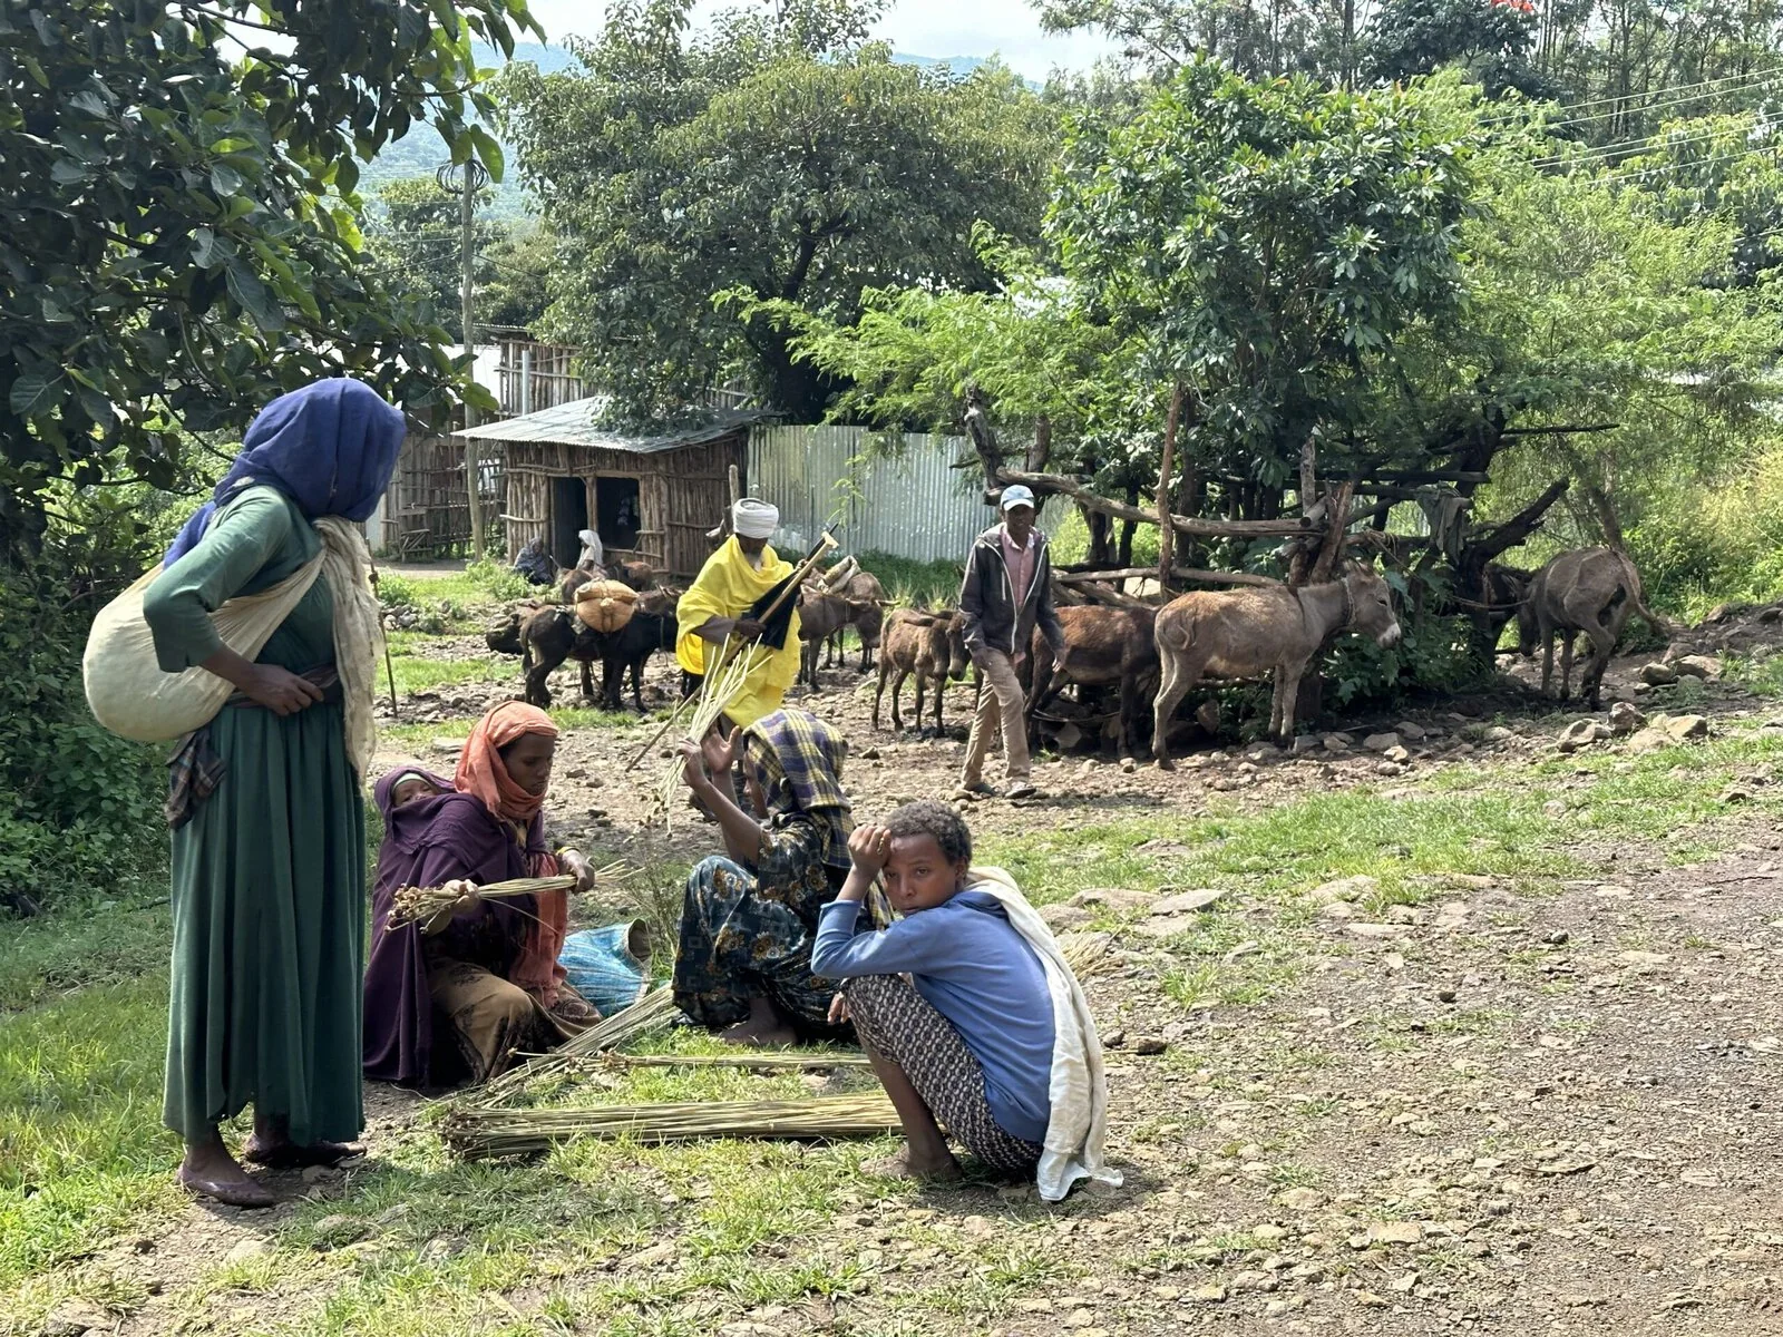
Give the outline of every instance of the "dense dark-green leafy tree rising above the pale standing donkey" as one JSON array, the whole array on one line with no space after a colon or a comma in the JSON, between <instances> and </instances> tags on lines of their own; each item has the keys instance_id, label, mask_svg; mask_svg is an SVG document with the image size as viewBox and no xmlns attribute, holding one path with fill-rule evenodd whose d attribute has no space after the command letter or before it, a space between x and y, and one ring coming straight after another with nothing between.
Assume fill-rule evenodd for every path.
<instances>
[{"instance_id":1,"label":"dense dark-green leafy tree rising above the pale standing donkey","mask_svg":"<svg viewBox=\"0 0 1783 1337\"><path fill-rule=\"evenodd\" d=\"M1196 61L1075 125L1047 232L1143 381L1186 387L1186 458L1269 515L1309 437L1332 471L1380 453L1396 342L1460 298L1466 159L1403 93Z\"/></svg>"}]
</instances>

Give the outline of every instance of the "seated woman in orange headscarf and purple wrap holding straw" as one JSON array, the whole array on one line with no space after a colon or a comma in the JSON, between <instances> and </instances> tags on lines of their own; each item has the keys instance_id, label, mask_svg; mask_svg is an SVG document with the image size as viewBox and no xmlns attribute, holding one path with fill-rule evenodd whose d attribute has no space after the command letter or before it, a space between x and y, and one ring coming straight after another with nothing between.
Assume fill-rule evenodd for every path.
<instances>
[{"instance_id":1,"label":"seated woman in orange headscarf and purple wrap holding straw","mask_svg":"<svg viewBox=\"0 0 1783 1337\"><path fill-rule=\"evenodd\" d=\"M471 731L449 784L415 768L378 781L385 834L366 972L366 1077L487 1082L515 1054L551 1048L597 1020L556 963L567 893L476 893L560 872L587 886L587 861L574 850L553 854L544 838L556 736L549 715L510 701ZM392 929L403 886L449 888L458 900L426 923Z\"/></svg>"}]
</instances>

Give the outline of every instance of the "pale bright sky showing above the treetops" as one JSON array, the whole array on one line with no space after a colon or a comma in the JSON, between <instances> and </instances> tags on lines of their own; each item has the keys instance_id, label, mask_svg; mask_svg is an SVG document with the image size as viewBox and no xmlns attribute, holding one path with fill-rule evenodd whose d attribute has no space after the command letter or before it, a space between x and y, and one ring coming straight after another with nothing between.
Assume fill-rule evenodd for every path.
<instances>
[{"instance_id":1,"label":"pale bright sky showing above the treetops","mask_svg":"<svg viewBox=\"0 0 1783 1337\"><path fill-rule=\"evenodd\" d=\"M738 0L701 0L697 14L745 7ZM601 29L599 0L531 0L533 16L551 41L567 34L592 37ZM1102 37L1047 36L1025 0L899 0L879 21L875 37L906 55L1000 55L1016 73L1043 80L1054 66L1088 70L1113 50Z\"/></svg>"}]
</instances>

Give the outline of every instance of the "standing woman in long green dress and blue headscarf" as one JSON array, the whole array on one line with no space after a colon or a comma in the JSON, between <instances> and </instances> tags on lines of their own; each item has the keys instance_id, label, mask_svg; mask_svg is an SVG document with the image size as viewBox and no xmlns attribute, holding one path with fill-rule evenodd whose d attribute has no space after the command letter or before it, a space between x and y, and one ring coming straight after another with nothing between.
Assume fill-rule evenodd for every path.
<instances>
[{"instance_id":1,"label":"standing woman in long green dress and blue headscarf","mask_svg":"<svg viewBox=\"0 0 1783 1337\"><path fill-rule=\"evenodd\" d=\"M364 538L325 526L346 558L330 554L253 661L221 644L209 615L316 560L317 521L364 524L401 440L403 415L358 381L280 396L143 603L164 672L200 665L235 688L173 761L164 1120L185 1139L180 1184L237 1207L273 1203L218 1132L244 1107L253 1137L242 1161L267 1168L341 1161L364 1128L358 772L378 636Z\"/></svg>"}]
</instances>

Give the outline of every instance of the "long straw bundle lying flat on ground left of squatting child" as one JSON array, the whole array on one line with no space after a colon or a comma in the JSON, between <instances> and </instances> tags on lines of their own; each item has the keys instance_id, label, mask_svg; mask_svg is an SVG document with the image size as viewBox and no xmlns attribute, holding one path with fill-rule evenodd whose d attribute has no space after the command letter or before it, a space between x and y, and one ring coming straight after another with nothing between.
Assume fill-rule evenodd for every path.
<instances>
[{"instance_id":1,"label":"long straw bundle lying flat on ground left of squatting child","mask_svg":"<svg viewBox=\"0 0 1783 1337\"><path fill-rule=\"evenodd\" d=\"M633 1137L678 1143L697 1137L874 1137L897 1132L897 1111L883 1091L809 1100L722 1100L587 1109L451 1111L440 1139L465 1161L544 1152L571 1137Z\"/></svg>"}]
</instances>

